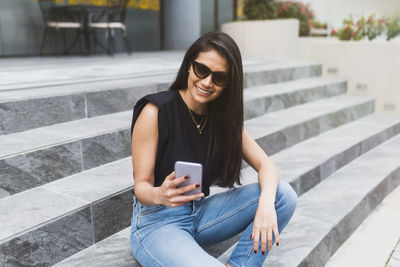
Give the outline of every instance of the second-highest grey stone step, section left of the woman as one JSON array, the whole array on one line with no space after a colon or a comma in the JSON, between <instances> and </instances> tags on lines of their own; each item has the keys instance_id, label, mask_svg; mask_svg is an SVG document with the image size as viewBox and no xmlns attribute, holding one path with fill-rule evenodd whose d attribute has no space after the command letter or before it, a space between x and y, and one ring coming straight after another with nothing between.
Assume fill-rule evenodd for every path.
<instances>
[{"instance_id":1,"label":"second-highest grey stone step, section left of the woman","mask_svg":"<svg viewBox=\"0 0 400 267\"><path fill-rule=\"evenodd\" d=\"M127 157L126 111L0 136L0 198Z\"/></svg>"}]
</instances>

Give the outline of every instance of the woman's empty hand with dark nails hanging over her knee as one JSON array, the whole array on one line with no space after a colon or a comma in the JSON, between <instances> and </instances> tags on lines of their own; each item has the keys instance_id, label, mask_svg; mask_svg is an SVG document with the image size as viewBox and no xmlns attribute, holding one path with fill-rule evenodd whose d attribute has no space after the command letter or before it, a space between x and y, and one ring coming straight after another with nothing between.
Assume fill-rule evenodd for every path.
<instances>
[{"instance_id":1,"label":"woman's empty hand with dark nails hanging over her knee","mask_svg":"<svg viewBox=\"0 0 400 267\"><path fill-rule=\"evenodd\" d=\"M272 247L272 233L275 236L275 244L279 245L279 231L274 203L265 203L260 199L256 216L253 221L253 239L254 253L258 251L258 245L261 238L261 253L265 254L265 249L268 245L268 251Z\"/></svg>"}]
</instances>

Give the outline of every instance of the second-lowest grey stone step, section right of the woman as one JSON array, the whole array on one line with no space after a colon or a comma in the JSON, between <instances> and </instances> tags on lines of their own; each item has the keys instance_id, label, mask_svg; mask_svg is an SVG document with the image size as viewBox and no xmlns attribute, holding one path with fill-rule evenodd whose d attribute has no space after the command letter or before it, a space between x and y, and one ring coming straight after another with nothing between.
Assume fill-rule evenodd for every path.
<instances>
[{"instance_id":1,"label":"second-lowest grey stone step, section right of the woman","mask_svg":"<svg viewBox=\"0 0 400 267\"><path fill-rule=\"evenodd\" d=\"M280 179L290 183L300 196L360 155L398 134L400 117L373 113L274 153L271 159L279 170ZM243 168L242 174L243 181L252 177L246 183L256 182L257 172L253 168ZM214 187L210 192L215 194L223 190Z\"/></svg>"}]
</instances>

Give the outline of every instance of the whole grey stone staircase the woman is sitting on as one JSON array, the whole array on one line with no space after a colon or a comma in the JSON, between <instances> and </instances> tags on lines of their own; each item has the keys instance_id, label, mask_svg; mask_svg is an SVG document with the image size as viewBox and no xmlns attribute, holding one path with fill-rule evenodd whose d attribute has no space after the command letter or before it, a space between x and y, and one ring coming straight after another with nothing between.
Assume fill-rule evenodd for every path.
<instances>
[{"instance_id":1,"label":"whole grey stone staircase the woman is sitting on","mask_svg":"<svg viewBox=\"0 0 400 267\"><path fill-rule=\"evenodd\" d=\"M373 113L374 99L346 95L346 81L320 77L319 64L244 69L245 127L299 195L266 264L323 265L400 184L400 118ZM139 266L129 248L132 108L175 72L0 91L1 266ZM257 181L246 164L242 177ZM225 262L238 239L205 249Z\"/></svg>"}]
</instances>

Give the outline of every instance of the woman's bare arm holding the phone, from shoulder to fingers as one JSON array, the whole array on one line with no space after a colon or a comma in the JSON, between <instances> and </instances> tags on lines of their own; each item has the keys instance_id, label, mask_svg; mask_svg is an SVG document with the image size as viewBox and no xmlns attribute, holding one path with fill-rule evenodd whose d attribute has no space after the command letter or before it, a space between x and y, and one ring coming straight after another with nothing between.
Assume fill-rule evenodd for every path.
<instances>
[{"instance_id":1,"label":"woman's bare arm holding the phone, from shoulder to fingers","mask_svg":"<svg viewBox=\"0 0 400 267\"><path fill-rule=\"evenodd\" d=\"M147 103L140 112L132 132L132 164L135 177L135 196L146 206L163 204L176 207L198 199L204 194L181 195L196 188L195 184L176 188L185 177L175 179L169 174L161 186L154 187L154 168L158 146L158 107Z\"/></svg>"}]
</instances>

